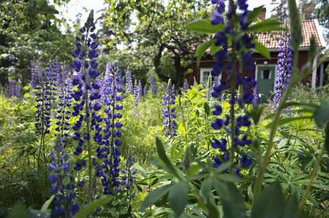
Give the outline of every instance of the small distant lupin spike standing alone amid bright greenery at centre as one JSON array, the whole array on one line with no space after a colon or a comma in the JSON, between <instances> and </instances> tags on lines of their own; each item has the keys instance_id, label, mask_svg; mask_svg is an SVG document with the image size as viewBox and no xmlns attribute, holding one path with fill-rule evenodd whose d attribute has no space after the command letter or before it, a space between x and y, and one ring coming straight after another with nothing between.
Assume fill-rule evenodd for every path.
<instances>
[{"instance_id":1,"label":"small distant lupin spike standing alone amid bright greenery at centre","mask_svg":"<svg viewBox=\"0 0 329 218\"><path fill-rule=\"evenodd\" d=\"M166 92L163 95L162 100L162 114L163 114L163 126L164 126L164 135L166 137L174 137L177 135L175 129L175 87L171 85L171 79L168 81Z\"/></svg>"}]
</instances>

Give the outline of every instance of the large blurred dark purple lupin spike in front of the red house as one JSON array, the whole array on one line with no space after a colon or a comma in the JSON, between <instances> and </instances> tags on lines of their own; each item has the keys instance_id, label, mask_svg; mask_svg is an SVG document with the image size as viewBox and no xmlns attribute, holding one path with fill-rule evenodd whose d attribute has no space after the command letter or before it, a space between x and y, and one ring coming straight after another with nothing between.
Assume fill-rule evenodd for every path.
<instances>
[{"instance_id":1,"label":"large blurred dark purple lupin spike in front of the red house","mask_svg":"<svg viewBox=\"0 0 329 218\"><path fill-rule=\"evenodd\" d=\"M217 25L219 23L223 24L223 12L225 11L225 0L211 0L213 4L216 4L217 11L212 14L212 25ZM248 5L246 0L239 0L237 1L237 7L239 8L240 14L239 16L239 27L234 27L236 25L232 21L233 14L237 13L234 8L234 1L230 1L228 6L228 12L226 13L226 24L223 31L218 31L215 36L215 44L217 46L221 46L221 49L215 53L215 64L213 66L213 70L211 72L213 77L218 77L223 70L224 60L228 60L227 64L227 72L228 72L228 79L230 79L230 99L228 102L230 103L230 115L225 115L225 118L217 118L212 123L212 128L214 129L221 129L223 128L228 135L230 135L231 142L228 143L226 138L223 139L214 139L211 145L212 148L219 149L221 152L221 157L215 157L214 159L214 167L218 167L221 163L225 163L226 161L234 161L238 158L238 156L234 153L235 148L237 146L247 146L252 143L248 139L248 135L241 133L242 127L247 127L251 124L249 121L249 115L239 115L236 117L234 114L234 105L239 103L241 107L244 104L252 103L254 99L254 94L252 89L254 89L256 85L256 81L254 80L253 76L243 77L242 72L240 70L233 70L233 66L235 64L235 60L233 59L234 55L227 55L228 54L228 46L230 32L237 31L238 29L245 30L249 27L247 16L249 14ZM252 44L252 36L249 36L247 33L243 33L241 40L230 42L230 46L232 46L232 52L238 53L239 57L241 57L243 61L243 68L245 70L254 70L254 60L252 58L252 53L249 49L254 47ZM241 48L245 48L242 51ZM242 94L241 96L237 96L236 90L232 87L241 86ZM219 96L223 96L223 90L226 90L226 80L221 79L219 85L215 85L213 87L212 97L219 98ZM222 108L220 105L215 105L215 110L212 112L214 115L221 115ZM230 147L228 147L230 145ZM230 154L232 152L232 154ZM244 161L244 162L243 162ZM248 164L245 164L245 158L241 161L241 167L245 167ZM232 169L230 171L232 172ZM237 167L236 174L239 175L240 168Z\"/></svg>"}]
</instances>

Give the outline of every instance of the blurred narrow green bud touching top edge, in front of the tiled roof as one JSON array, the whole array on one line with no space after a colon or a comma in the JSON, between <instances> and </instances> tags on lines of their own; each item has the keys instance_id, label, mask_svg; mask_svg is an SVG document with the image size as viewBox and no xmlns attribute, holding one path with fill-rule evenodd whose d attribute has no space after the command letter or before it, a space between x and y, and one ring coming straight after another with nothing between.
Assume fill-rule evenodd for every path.
<instances>
[{"instance_id":1,"label":"blurred narrow green bud touching top edge, in front of the tiled roof","mask_svg":"<svg viewBox=\"0 0 329 218\"><path fill-rule=\"evenodd\" d=\"M300 11L297 8L295 0L288 0L290 31L291 31L291 46L297 49L302 44L302 27L300 25Z\"/></svg>"}]
</instances>

